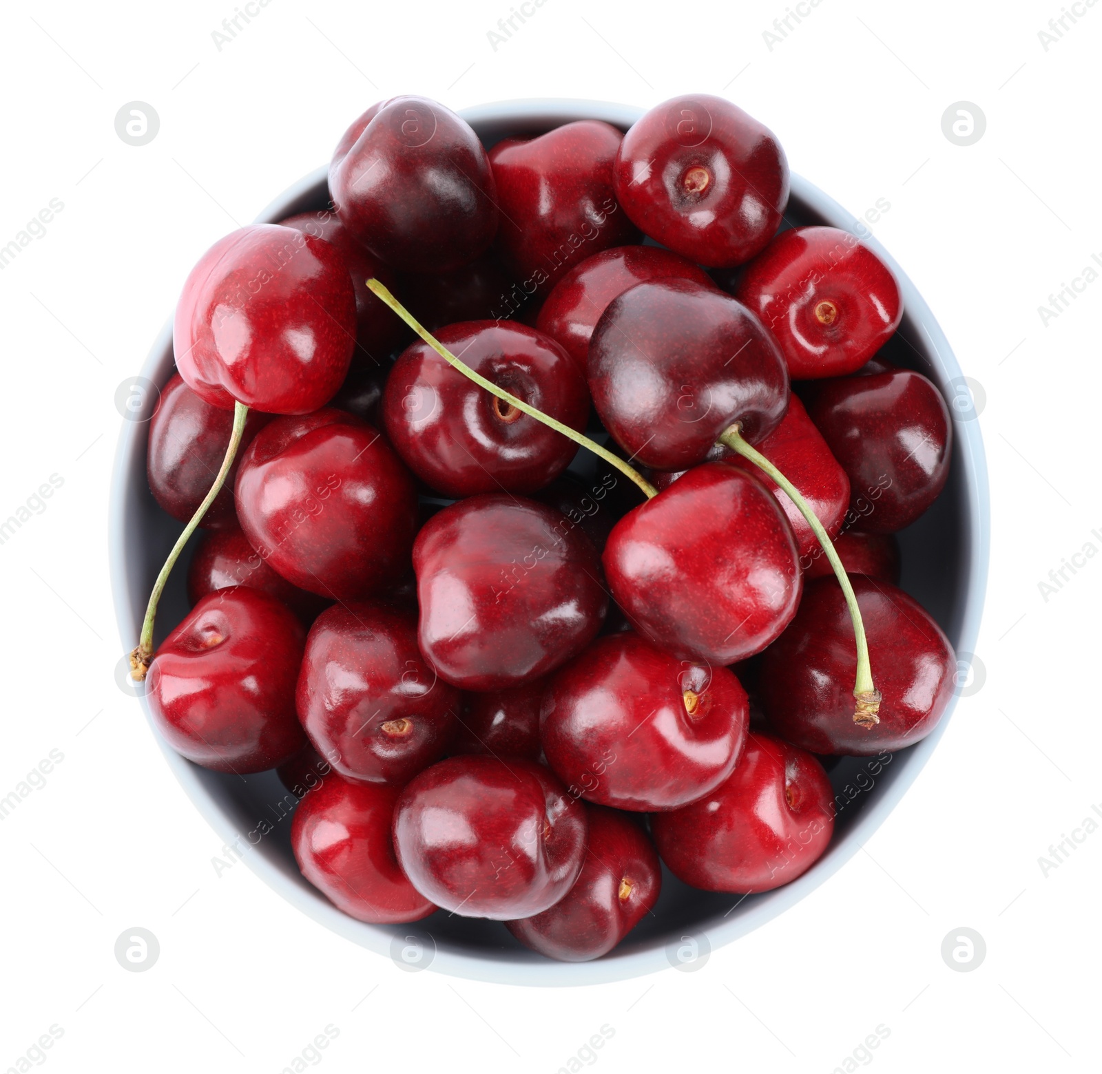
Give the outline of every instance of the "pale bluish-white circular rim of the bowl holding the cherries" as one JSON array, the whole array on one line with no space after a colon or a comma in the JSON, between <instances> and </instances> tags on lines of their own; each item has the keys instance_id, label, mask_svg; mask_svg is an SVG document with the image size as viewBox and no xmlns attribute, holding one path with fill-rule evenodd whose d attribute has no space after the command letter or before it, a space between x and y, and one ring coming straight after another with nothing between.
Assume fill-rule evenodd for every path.
<instances>
[{"instance_id":1,"label":"pale bluish-white circular rim of the bowl holding the cherries","mask_svg":"<svg viewBox=\"0 0 1102 1074\"><path fill-rule=\"evenodd\" d=\"M497 129L501 132L526 123L532 127L570 122L577 119L601 119L614 126L630 127L645 109L630 105L573 98L530 98L494 101L460 110L468 123L475 127ZM253 223L274 223L289 215L291 209L303 203L326 181L327 165L304 175L296 183L274 198ZM834 227L852 229L861 221L845 210L838 202L800 175L791 175L791 196L807 208L828 220ZM864 226L864 225L862 225ZM949 340L930 307L919 294L909 276L898 265L880 242L867 234L862 242L873 249L895 272L907 316L917 325L925 337L928 357L941 375L942 383L957 382L963 377ZM168 356L168 357L166 357ZM143 362L141 376L156 384L162 384L171 370L172 362L172 318L161 329ZM166 375L168 370L168 375ZM990 489L987 468L977 421L953 422L953 433L959 446L959 465L963 467L964 534L962 541L964 592L963 614L960 620L957 651L971 653L979 634L980 620L986 592L990 558ZM145 423L123 421L116 446L111 470L111 489L108 507L108 557L110 567L111 597L115 604L119 634L123 652L137 641L140 622L134 622L131 614L131 589L126 569L127 517L130 493L128 475L133 473L137 458L142 459L144 473ZM176 753L158 734L143 693L138 696L147 722L164 758L175 778L192 803L206 818L220 838L227 844L240 838L236 825L228 813L214 800L199 779L199 769ZM714 950L746 935L787 909L804 896L824 883L853 857L861 846L883 824L896 807L911 783L918 778L930 755L944 734L957 704L957 695L950 698L946 713L934 730L920 742L910 747L904 763L893 772L888 785L884 786L865 805L852 826L832 843L830 854L821 858L811 869L784 887L759 896L753 905L742 913L719 924L707 924L696 934L706 937L707 947ZM290 881L276 865L261 854L246 854L244 859L252 871L283 899L296 907L331 931L345 936L359 946L378 955L395 957L395 944L402 937L395 926L369 925L347 916L328 902L320 892L304 890ZM728 911L730 912L730 911ZM400 927L400 926L399 926ZM423 930L414 923L409 931L423 935ZM688 939L688 937L685 937ZM558 963L550 959L510 961L466 951L439 947L434 951L429 968L455 977L497 984L544 986L598 985L655 973L670 968L673 959L668 953L672 944L657 939L641 950L617 955L614 950L603 958L587 963ZM397 958L395 959L397 962Z\"/></svg>"}]
</instances>

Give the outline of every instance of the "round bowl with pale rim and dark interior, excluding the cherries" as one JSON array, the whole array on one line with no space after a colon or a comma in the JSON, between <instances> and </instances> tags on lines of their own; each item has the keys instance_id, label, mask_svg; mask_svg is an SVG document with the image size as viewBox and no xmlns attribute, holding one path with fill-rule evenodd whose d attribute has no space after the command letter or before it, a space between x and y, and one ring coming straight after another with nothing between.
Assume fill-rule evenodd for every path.
<instances>
[{"instance_id":1,"label":"round bowl with pale rim and dark interior, excluding the cherries","mask_svg":"<svg viewBox=\"0 0 1102 1074\"><path fill-rule=\"evenodd\" d=\"M349 109L353 115L356 108ZM577 119L601 119L623 130L642 109L585 100L516 100L482 105L461 112L487 148L507 134L538 134ZM280 220L294 213L321 209L328 202L326 169L320 167L273 200L257 223ZM855 218L798 175L787 217L796 224L827 224L854 229ZM858 231L858 234L861 234ZM953 414L953 448L949 481L933 507L899 534L903 588L937 619L955 649L961 665L971 661L987 577L990 510L983 443L975 411L957 359L907 274L874 239L865 241L892 267L899 281L904 317L895 337L882 350L889 360L929 377L944 394ZM171 318L158 336L142 378L163 387L173 372ZM141 382L140 382L141 383ZM123 651L136 643L150 587L180 532L180 523L162 512L145 480L148 421L156 391L148 391L140 410L123 422L115 458L109 510L111 589ZM161 603L158 622L163 637L187 611L184 592L185 552ZM139 694L152 727L142 688ZM202 769L175 753L154 729L169 768L184 791L227 846L296 910L327 929L403 969L431 968L458 977L505 984L585 985L636 977L671 965L684 966L731 943L802 899L854 855L880 825L930 753L952 714L955 696L934 731L887 761L842 758L830 770L838 795L834 838L825 855L796 881L761 894L738 897L698 891L668 871L653 915L603 958L590 963L557 963L522 947L498 922L463 919L439 911L415 925L369 925L337 910L299 872L289 831L294 799L274 772L242 779Z\"/></svg>"}]
</instances>

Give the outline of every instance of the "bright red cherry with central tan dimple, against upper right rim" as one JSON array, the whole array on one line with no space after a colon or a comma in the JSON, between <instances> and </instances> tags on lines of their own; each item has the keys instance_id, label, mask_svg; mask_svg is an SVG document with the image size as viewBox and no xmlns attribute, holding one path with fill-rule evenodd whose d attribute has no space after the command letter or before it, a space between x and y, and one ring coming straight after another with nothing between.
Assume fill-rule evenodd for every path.
<instances>
[{"instance_id":1,"label":"bright red cherry with central tan dimple, against upper right rim","mask_svg":"<svg viewBox=\"0 0 1102 1074\"><path fill-rule=\"evenodd\" d=\"M793 380L855 372L903 319L892 270L838 228L781 231L734 294L776 336Z\"/></svg>"}]
</instances>

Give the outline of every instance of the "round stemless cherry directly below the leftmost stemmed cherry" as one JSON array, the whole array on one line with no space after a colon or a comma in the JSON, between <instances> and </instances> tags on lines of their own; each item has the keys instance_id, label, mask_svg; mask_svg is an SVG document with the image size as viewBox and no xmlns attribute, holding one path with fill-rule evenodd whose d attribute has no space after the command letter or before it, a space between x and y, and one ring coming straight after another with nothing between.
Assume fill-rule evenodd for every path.
<instances>
[{"instance_id":1,"label":"round stemless cherry directly below the leftmost stemmed cherry","mask_svg":"<svg viewBox=\"0 0 1102 1074\"><path fill-rule=\"evenodd\" d=\"M371 596L408 569L417 532L413 479L378 432L339 410L272 422L237 475L249 543L301 589L329 600Z\"/></svg>"}]
</instances>

